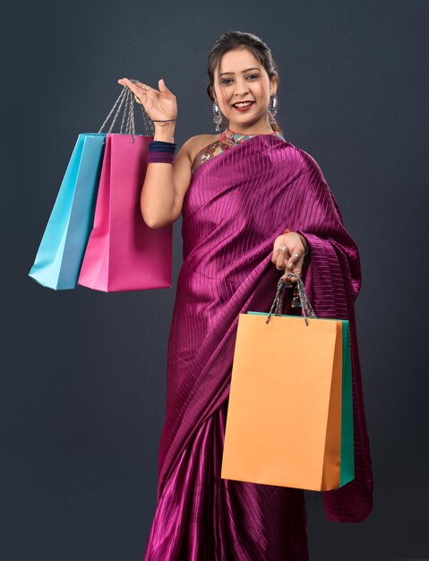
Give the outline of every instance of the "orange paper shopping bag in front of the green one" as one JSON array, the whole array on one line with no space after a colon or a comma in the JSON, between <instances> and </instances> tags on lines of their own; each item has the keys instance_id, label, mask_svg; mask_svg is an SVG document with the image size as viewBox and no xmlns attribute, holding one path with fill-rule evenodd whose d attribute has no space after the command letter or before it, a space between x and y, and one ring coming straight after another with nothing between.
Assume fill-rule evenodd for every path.
<instances>
[{"instance_id":1,"label":"orange paper shopping bag in front of the green one","mask_svg":"<svg viewBox=\"0 0 429 561\"><path fill-rule=\"evenodd\" d=\"M343 320L316 318L296 281L304 318L280 315L282 279L269 314L239 315L221 478L325 491L354 477L340 473Z\"/></svg>"}]
</instances>

